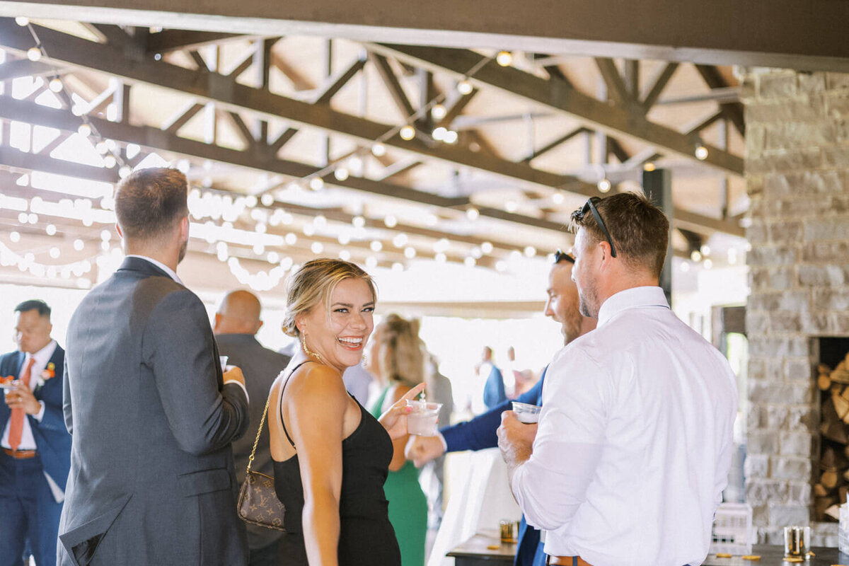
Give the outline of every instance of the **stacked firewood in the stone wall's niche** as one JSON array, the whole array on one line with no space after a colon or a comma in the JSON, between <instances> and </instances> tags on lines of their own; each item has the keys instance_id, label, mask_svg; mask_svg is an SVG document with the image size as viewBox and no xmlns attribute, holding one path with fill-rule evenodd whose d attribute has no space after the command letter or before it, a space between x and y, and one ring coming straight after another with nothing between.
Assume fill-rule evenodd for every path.
<instances>
[{"instance_id":1,"label":"stacked firewood in the stone wall's niche","mask_svg":"<svg viewBox=\"0 0 849 566\"><path fill-rule=\"evenodd\" d=\"M813 485L814 514L818 521L829 521L838 520L839 506L849 492L849 354L834 369L824 363L817 369L822 392L819 432L824 440L819 480Z\"/></svg>"}]
</instances>

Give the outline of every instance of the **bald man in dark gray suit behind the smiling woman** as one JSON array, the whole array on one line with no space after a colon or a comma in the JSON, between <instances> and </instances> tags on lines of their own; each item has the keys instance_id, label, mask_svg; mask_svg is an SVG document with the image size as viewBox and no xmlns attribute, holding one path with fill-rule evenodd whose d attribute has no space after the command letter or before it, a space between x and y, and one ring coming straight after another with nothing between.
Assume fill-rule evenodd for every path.
<instances>
[{"instance_id":1,"label":"bald man in dark gray suit behind the smiling woman","mask_svg":"<svg viewBox=\"0 0 849 566\"><path fill-rule=\"evenodd\" d=\"M224 296L215 315L216 342L222 356L229 356L228 363L239 366L245 373L245 387L250 395L250 425L248 432L233 442L233 459L236 462L236 479L239 485L245 481L250 450L256 440L262 411L268 399L268 391L274 378L289 364L290 357L264 348L256 333L262 326L260 300L248 291L231 291ZM276 411L277 407L269 407ZM271 448L268 446L268 428L256 445L254 462L250 468L262 474L274 475ZM233 508L233 513L235 513ZM250 566L277 566L280 563L278 541L283 533L279 530L248 524L248 547Z\"/></svg>"}]
</instances>

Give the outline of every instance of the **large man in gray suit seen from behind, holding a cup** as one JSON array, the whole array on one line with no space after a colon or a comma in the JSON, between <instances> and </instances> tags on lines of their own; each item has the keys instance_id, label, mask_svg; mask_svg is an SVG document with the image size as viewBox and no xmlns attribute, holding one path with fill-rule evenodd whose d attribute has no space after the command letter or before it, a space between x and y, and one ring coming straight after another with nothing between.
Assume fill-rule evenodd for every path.
<instances>
[{"instance_id":1,"label":"large man in gray suit seen from behind, holding a cup","mask_svg":"<svg viewBox=\"0 0 849 566\"><path fill-rule=\"evenodd\" d=\"M222 375L204 305L177 277L187 193L173 169L118 184L127 258L71 317L61 566L246 563L230 443L248 395L238 368Z\"/></svg>"}]
</instances>

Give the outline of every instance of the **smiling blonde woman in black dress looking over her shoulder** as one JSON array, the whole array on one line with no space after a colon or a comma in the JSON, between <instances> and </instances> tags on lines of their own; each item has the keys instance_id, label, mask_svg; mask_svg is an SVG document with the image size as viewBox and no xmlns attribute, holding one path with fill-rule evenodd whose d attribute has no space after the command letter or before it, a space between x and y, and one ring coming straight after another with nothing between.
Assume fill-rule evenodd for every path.
<instances>
[{"instance_id":1,"label":"smiling blonde woman in black dress looking over her shoulder","mask_svg":"<svg viewBox=\"0 0 849 566\"><path fill-rule=\"evenodd\" d=\"M347 261L309 261L291 279L284 332L301 348L268 411L284 564L401 564L383 484L392 439L407 434L406 400L424 384L380 420L346 392L342 373L363 358L374 302L371 277Z\"/></svg>"}]
</instances>

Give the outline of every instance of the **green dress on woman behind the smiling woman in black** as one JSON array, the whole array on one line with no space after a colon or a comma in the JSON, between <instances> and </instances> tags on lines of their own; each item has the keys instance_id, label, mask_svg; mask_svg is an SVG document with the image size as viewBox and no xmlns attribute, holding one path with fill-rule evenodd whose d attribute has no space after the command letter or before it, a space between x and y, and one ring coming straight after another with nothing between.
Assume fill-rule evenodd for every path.
<instances>
[{"instance_id":1,"label":"green dress on woman behind the smiling woman in black","mask_svg":"<svg viewBox=\"0 0 849 566\"><path fill-rule=\"evenodd\" d=\"M371 406L374 417L380 417L389 389L384 389ZM424 566L427 498L419 485L419 470L413 462L404 462L398 471L390 471L383 490L389 502L389 522L401 547L401 566Z\"/></svg>"}]
</instances>

